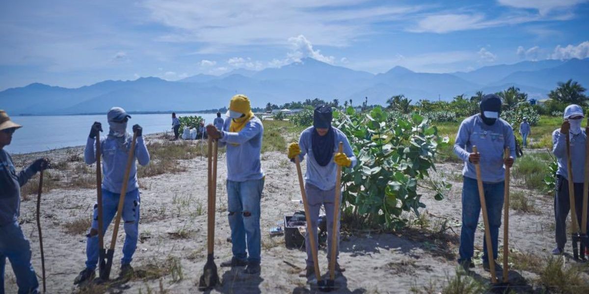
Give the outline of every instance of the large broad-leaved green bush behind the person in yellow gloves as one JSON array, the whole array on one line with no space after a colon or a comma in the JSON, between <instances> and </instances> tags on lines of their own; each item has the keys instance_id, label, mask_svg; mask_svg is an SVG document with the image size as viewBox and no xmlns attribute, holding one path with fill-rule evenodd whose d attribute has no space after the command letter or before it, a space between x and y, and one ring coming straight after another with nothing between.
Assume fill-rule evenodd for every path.
<instances>
[{"instance_id":1,"label":"large broad-leaved green bush behind the person in yellow gloves","mask_svg":"<svg viewBox=\"0 0 589 294\"><path fill-rule=\"evenodd\" d=\"M441 200L449 188L429 177L438 148L448 143L418 113L389 119L379 106L369 113L335 112L333 125L344 132L358 165L342 176L344 216L359 226L398 229L407 222L402 212L424 208L418 186L434 190ZM391 121L392 120L392 121Z\"/></svg>"}]
</instances>

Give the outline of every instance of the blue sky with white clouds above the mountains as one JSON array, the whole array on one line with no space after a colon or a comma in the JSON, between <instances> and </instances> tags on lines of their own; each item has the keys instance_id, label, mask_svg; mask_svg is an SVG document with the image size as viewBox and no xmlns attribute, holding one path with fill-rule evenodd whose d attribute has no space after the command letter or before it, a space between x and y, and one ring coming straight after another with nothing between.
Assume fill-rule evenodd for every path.
<instances>
[{"instance_id":1,"label":"blue sky with white clouds above the mountains","mask_svg":"<svg viewBox=\"0 0 589 294\"><path fill-rule=\"evenodd\" d=\"M0 2L0 91L170 81L311 57L373 74L589 57L589 0Z\"/></svg>"}]
</instances>

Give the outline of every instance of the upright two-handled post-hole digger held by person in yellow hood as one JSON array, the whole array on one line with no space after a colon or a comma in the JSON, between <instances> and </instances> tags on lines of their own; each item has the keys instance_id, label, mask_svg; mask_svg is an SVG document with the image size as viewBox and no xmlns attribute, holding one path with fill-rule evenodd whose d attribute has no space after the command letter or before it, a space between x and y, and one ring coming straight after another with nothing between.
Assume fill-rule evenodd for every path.
<instances>
[{"instance_id":1,"label":"upright two-handled post-hole digger held by person in yellow hood","mask_svg":"<svg viewBox=\"0 0 589 294\"><path fill-rule=\"evenodd\" d=\"M214 141L214 142L213 142ZM207 186L209 190L209 205L207 208L207 263L204 264L203 275L200 276L198 282L198 290L204 291L214 288L219 282L219 274L217 273L217 265L214 260L214 239L215 239L215 201L217 189L217 140L213 140L209 136L209 146L207 155L209 157L209 172L207 173ZM213 149L214 146L214 158Z\"/></svg>"}]
</instances>

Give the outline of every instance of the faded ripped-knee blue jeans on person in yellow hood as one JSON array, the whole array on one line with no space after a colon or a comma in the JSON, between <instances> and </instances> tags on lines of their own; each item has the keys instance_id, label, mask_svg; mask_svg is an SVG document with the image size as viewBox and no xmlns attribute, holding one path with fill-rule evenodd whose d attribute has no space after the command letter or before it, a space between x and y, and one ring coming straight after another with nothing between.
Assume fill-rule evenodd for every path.
<instances>
[{"instance_id":1,"label":"faded ripped-knee blue jeans on person in yellow hood","mask_svg":"<svg viewBox=\"0 0 589 294\"><path fill-rule=\"evenodd\" d=\"M227 209L233 257L259 263L262 235L260 233L260 199L264 179L245 182L227 180ZM247 252L246 252L247 246ZM249 254L249 256L248 256Z\"/></svg>"}]
</instances>

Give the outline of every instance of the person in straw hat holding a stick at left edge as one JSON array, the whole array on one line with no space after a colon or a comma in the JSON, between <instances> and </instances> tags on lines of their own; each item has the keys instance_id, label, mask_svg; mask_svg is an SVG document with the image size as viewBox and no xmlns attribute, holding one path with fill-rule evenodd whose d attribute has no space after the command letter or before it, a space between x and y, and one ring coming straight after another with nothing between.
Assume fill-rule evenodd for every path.
<instances>
[{"instance_id":1,"label":"person in straw hat holding a stick at left edge","mask_svg":"<svg viewBox=\"0 0 589 294\"><path fill-rule=\"evenodd\" d=\"M16 276L18 293L38 293L39 282L31 265L31 245L22 233L18 216L21 187L35 173L46 169L49 161L47 158L37 159L28 168L16 173L12 158L4 146L10 145L12 134L18 128L21 125L12 122L8 114L0 110L0 293L4 293L6 258L10 260Z\"/></svg>"}]
</instances>

